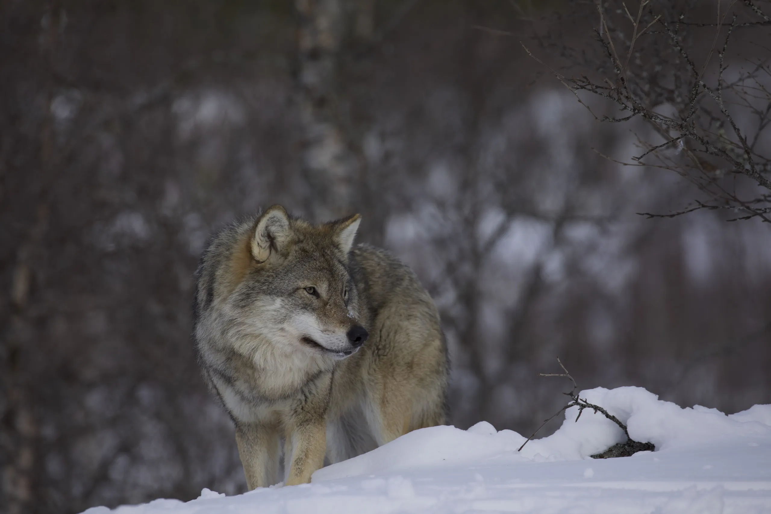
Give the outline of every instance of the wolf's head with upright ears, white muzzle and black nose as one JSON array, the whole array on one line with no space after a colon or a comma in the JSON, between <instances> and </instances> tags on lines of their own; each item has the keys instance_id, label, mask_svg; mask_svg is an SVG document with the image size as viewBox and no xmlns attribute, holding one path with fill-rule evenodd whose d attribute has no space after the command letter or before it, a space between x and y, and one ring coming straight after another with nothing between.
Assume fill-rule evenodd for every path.
<instances>
[{"instance_id":1,"label":"wolf's head with upright ears, white muzzle and black nose","mask_svg":"<svg viewBox=\"0 0 771 514\"><path fill-rule=\"evenodd\" d=\"M270 207L254 221L231 307L250 331L288 351L345 358L368 334L348 272L359 214L311 225Z\"/></svg>"}]
</instances>

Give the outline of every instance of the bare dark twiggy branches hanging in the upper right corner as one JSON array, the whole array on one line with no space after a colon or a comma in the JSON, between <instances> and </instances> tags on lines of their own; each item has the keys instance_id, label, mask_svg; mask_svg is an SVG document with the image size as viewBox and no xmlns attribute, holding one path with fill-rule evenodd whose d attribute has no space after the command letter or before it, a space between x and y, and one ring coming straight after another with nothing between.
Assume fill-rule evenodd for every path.
<instances>
[{"instance_id":1,"label":"bare dark twiggy branches hanging in the upper right corner","mask_svg":"<svg viewBox=\"0 0 771 514\"><path fill-rule=\"evenodd\" d=\"M738 193L736 183L729 184L724 180L727 176L744 176L755 184L753 187L771 190L771 162L759 151L759 142L766 140L771 130L771 92L765 86L767 77L771 76L771 69L766 66L768 59L763 56L745 59L752 62L751 69L742 69L730 82L725 78L733 31L746 25L745 22L740 23L739 18L760 18L747 22L760 26L757 24L769 22L768 16L749 0L743 2L743 11L741 3L731 0L725 6L717 6L715 22L698 24L697 27L685 20L685 14L673 17L674 8L665 4L656 6L660 12L653 12L649 2L642 0L638 12L633 15L624 2L618 0L614 9L606 6L611 3L597 1L594 5L601 25L595 35L604 53L600 69L611 66L615 73L613 79L564 76L550 66L544 66L571 90L594 119L610 123L644 120L653 129L656 139L660 136L663 142L642 138L643 151L631 160L636 161L638 166L674 171L708 197L697 207L675 213L641 214L646 217L675 217L702 209L732 209L746 214L730 220L757 218L769 222L771 202L744 200L746 188L742 187L742 193ZM726 19L729 15L732 20L728 24ZM672 18L675 18L674 22L665 21ZM631 31L617 27L628 23L631 23ZM645 29L642 29L643 26ZM693 32L699 27L711 27L713 32L696 38ZM631 32L629 39L623 35L626 31ZM645 48L637 45L643 33L651 42ZM721 35L725 37L719 45ZM693 55L699 55L700 49L695 46L695 41L704 38L709 38L712 44L707 46L703 63L697 66ZM532 56L527 48L526 51ZM621 51L625 53L623 60L619 59ZM646 58L632 59L633 54L645 55ZM717 66L713 69L715 54ZM544 64L540 59L536 60ZM596 108L590 109L579 98L581 92L597 96L622 114L597 113ZM659 112L658 106L662 105L674 107L675 113ZM755 121L748 123L747 114L754 116ZM604 157L624 166L635 165ZM765 198L751 190L749 195Z\"/></svg>"}]
</instances>

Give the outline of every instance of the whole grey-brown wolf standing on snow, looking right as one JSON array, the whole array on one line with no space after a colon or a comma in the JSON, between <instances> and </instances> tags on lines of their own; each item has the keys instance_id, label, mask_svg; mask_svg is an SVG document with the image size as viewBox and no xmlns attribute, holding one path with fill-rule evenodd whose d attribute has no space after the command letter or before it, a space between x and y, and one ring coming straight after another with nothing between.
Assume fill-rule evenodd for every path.
<instances>
[{"instance_id":1,"label":"whole grey-brown wolf standing on snow, looking right","mask_svg":"<svg viewBox=\"0 0 771 514\"><path fill-rule=\"evenodd\" d=\"M235 423L249 489L278 482L281 438L294 485L325 456L445 422L436 306L396 258L353 247L358 226L358 214L314 226L274 206L222 230L201 259L199 362Z\"/></svg>"}]
</instances>

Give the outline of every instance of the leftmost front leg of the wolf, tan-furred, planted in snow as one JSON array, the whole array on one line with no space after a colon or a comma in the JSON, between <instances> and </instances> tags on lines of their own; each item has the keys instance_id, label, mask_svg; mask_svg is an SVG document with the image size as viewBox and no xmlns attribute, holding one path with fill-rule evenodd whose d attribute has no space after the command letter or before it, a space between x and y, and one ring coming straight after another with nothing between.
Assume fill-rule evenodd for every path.
<instances>
[{"instance_id":1,"label":"leftmost front leg of the wolf, tan-furred, planted in snow","mask_svg":"<svg viewBox=\"0 0 771 514\"><path fill-rule=\"evenodd\" d=\"M258 423L236 424L236 445L251 491L278 482L278 432Z\"/></svg>"}]
</instances>

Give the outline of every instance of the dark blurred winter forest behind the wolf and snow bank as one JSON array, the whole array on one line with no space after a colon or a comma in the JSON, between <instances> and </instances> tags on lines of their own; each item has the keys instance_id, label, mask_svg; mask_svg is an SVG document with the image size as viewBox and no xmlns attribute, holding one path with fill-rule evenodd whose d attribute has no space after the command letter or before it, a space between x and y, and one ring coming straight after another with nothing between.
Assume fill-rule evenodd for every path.
<instances>
[{"instance_id":1,"label":"dark blurred winter forest behind the wolf and snow bank","mask_svg":"<svg viewBox=\"0 0 771 514\"><path fill-rule=\"evenodd\" d=\"M755 66L771 4L729 3L721 60ZM639 6L604 5L618 24ZM677 26L712 48L718 2L651 5L665 25L645 37L691 20ZM638 215L707 205L709 187L757 205L762 181L702 161L708 183L623 166L656 140L645 116L598 123L586 106L612 108L582 106L520 45L562 74L612 75L595 39L631 29L608 26L593 1L2 0L0 511L244 491L190 304L210 233L272 203L362 213L359 240L416 270L443 316L462 428L529 435L564 404L567 385L537 377L557 356L581 388L724 412L771 402L766 207L730 223L736 205ZM672 92L649 109L692 106L683 55L642 39L629 52L663 74L643 73L641 92ZM672 159L691 152L673 141ZM771 153L767 136L752 144Z\"/></svg>"}]
</instances>

